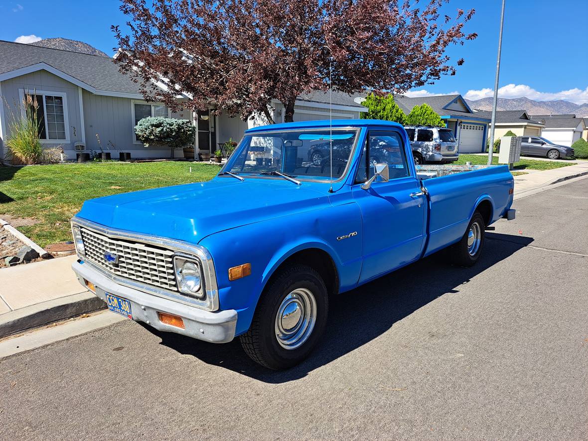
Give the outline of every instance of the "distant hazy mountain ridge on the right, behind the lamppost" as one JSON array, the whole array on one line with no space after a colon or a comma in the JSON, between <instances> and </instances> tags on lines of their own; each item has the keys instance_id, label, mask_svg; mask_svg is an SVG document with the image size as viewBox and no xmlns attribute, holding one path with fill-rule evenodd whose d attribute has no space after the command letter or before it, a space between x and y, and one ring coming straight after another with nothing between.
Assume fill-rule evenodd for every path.
<instances>
[{"instance_id":1,"label":"distant hazy mountain ridge on the right, behind the lamppost","mask_svg":"<svg viewBox=\"0 0 588 441\"><path fill-rule=\"evenodd\" d=\"M492 110L492 98L482 98L475 101L466 99L472 109ZM499 98L497 110L526 110L529 115L562 115L575 113L578 118L588 117L588 104L574 104L563 101L534 101L526 98Z\"/></svg>"}]
</instances>

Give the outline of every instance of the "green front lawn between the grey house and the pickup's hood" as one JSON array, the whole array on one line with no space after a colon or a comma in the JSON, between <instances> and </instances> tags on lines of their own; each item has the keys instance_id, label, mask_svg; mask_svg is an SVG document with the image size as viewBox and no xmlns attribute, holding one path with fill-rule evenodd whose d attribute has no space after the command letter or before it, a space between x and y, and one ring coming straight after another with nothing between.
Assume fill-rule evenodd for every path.
<instances>
[{"instance_id":1,"label":"green front lawn between the grey house and the pickup's hood","mask_svg":"<svg viewBox=\"0 0 588 441\"><path fill-rule=\"evenodd\" d=\"M208 181L218 171L216 166L195 162L0 166L0 218L4 214L38 220L18 229L46 246L71 240L69 219L86 199Z\"/></svg>"}]
</instances>

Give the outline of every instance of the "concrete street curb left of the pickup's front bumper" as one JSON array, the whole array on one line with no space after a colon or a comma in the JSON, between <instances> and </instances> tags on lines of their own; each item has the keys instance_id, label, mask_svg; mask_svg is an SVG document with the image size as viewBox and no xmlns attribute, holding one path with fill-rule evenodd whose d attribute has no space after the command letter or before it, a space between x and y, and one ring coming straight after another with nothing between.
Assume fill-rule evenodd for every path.
<instances>
[{"instance_id":1,"label":"concrete street curb left of the pickup's front bumper","mask_svg":"<svg viewBox=\"0 0 588 441\"><path fill-rule=\"evenodd\" d=\"M0 315L0 337L104 308L102 299L89 291L26 306Z\"/></svg>"}]
</instances>

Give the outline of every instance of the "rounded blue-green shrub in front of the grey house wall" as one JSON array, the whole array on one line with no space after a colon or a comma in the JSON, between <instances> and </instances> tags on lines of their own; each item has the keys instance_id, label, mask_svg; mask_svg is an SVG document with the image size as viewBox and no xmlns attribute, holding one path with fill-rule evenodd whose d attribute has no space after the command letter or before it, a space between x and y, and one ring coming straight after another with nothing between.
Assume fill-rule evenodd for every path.
<instances>
[{"instance_id":1,"label":"rounded blue-green shrub in front of the grey house wall","mask_svg":"<svg viewBox=\"0 0 588 441\"><path fill-rule=\"evenodd\" d=\"M179 149L194 142L196 128L187 119L149 116L137 123L135 133L146 147L168 146L172 149L173 156L173 149Z\"/></svg>"}]
</instances>

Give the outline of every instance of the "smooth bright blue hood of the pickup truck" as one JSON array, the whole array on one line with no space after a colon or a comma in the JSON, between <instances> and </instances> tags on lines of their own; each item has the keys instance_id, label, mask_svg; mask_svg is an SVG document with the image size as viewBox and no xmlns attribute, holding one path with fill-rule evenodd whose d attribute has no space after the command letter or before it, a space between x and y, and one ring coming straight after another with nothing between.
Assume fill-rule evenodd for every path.
<instances>
[{"instance_id":1,"label":"smooth bright blue hood of the pickup truck","mask_svg":"<svg viewBox=\"0 0 588 441\"><path fill-rule=\"evenodd\" d=\"M78 217L103 226L198 243L212 233L329 205L328 193L285 179L209 182L91 199ZM328 188L328 187L327 187Z\"/></svg>"}]
</instances>

